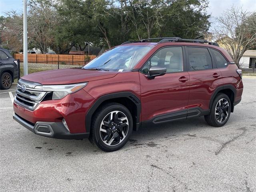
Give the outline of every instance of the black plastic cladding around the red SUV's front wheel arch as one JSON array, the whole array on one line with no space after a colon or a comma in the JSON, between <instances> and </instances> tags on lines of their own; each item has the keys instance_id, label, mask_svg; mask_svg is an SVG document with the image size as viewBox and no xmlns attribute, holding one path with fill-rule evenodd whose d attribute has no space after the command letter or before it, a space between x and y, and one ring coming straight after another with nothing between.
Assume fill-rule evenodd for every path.
<instances>
[{"instance_id":1,"label":"black plastic cladding around the red SUV's front wheel arch","mask_svg":"<svg viewBox=\"0 0 256 192\"><path fill-rule=\"evenodd\" d=\"M86 114L86 120L85 120L86 132L90 132L92 117L96 112L96 110L100 106L108 102L116 102L128 108L128 110L132 114L133 129L137 130L136 125L140 123L140 113L141 113L140 99L137 96L135 96L132 92L117 92L117 93L103 95L100 98L98 98L96 102L94 102L94 104Z\"/></svg>"}]
</instances>

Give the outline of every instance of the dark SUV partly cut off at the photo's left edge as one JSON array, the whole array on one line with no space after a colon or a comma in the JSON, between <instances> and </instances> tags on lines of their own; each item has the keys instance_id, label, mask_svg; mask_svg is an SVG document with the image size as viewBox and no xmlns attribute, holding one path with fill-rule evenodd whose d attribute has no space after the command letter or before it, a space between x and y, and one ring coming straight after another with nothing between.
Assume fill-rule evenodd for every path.
<instances>
[{"instance_id":1,"label":"dark SUV partly cut off at the photo's left edge","mask_svg":"<svg viewBox=\"0 0 256 192\"><path fill-rule=\"evenodd\" d=\"M18 78L18 62L3 48L0 48L0 78L0 89L9 89Z\"/></svg>"}]
</instances>

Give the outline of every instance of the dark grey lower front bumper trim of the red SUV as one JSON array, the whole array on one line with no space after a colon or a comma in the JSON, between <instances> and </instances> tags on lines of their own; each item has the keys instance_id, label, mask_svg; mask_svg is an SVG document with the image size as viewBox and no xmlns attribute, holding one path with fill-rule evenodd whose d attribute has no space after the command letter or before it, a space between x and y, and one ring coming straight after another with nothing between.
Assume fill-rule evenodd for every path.
<instances>
[{"instance_id":1,"label":"dark grey lower front bumper trim of the red SUV","mask_svg":"<svg viewBox=\"0 0 256 192\"><path fill-rule=\"evenodd\" d=\"M88 138L90 133L70 133L66 130L62 122L36 122L31 124L24 120L16 113L13 114L13 119L22 126L32 131L34 134L57 139L83 139Z\"/></svg>"}]
</instances>

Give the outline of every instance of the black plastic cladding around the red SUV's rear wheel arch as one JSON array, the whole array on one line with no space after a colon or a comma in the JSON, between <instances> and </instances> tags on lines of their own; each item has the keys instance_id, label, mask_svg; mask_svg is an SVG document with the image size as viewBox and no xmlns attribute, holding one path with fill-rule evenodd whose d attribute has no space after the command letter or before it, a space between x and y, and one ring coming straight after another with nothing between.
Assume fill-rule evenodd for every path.
<instances>
[{"instance_id":1,"label":"black plastic cladding around the red SUV's rear wheel arch","mask_svg":"<svg viewBox=\"0 0 256 192\"><path fill-rule=\"evenodd\" d=\"M229 97L231 102L231 112L234 112L234 98L236 97L236 88L234 88L234 86L232 85L224 85L216 88L216 90L212 94L209 109L212 108L212 103L214 102L214 99L218 93L224 93Z\"/></svg>"}]
</instances>

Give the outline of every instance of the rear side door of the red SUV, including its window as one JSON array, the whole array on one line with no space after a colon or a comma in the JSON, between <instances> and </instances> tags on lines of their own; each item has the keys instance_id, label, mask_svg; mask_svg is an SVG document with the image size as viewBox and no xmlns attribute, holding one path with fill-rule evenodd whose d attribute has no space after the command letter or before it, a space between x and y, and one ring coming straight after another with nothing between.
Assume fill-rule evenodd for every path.
<instances>
[{"instance_id":1,"label":"rear side door of the red SUV, including its window","mask_svg":"<svg viewBox=\"0 0 256 192\"><path fill-rule=\"evenodd\" d=\"M221 72L208 48L186 46L185 50L190 77L188 109L208 110L212 93L222 84Z\"/></svg>"}]
</instances>

